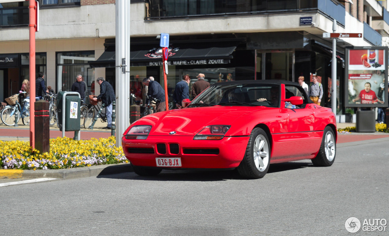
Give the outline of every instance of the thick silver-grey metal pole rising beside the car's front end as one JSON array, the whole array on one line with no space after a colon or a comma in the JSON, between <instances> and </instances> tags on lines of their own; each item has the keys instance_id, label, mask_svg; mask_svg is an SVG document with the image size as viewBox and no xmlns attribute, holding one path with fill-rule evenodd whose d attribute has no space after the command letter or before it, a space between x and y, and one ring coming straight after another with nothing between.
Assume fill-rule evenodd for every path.
<instances>
[{"instance_id":1,"label":"thick silver-grey metal pole rising beside the car's front end","mask_svg":"<svg viewBox=\"0 0 389 236\"><path fill-rule=\"evenodd\" d=\"M116 0L116 147L130 125L130 1Z\"/></svg>"}]
</instances>

